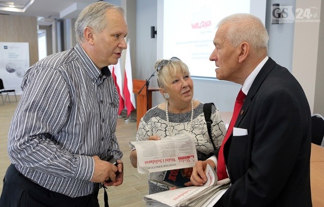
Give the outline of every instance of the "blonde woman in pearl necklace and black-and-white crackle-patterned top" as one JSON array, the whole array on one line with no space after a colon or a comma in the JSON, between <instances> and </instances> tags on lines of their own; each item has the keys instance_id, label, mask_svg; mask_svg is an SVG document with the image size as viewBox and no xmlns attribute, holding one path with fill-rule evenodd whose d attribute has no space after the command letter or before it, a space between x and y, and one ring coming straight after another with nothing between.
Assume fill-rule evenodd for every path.
<instances>
[{"instance_id":1,"label":"blonde woman in pearl necklace and black-and-white crackle-patterned top","mask_svg":"<svg viewBox=\"0 0 324 207\"><path fill-rule=\"evenodd\" d=\"M219 148L226 129L219 110L213 105L211 119L212 138L209 137L203 112L204 104L193 100L193 81L188 66L178 58L158 60L157 70L159 91L165 102L151 108L141 118L136 141L159 140L181 133L191 133L199 152L208 154ZM212 141L213 143L212 143ZM133 167L137 167L136 150L130 154ZM170 186L148 181L149 194L166 191Z\"/></svg>"}]
</instances>

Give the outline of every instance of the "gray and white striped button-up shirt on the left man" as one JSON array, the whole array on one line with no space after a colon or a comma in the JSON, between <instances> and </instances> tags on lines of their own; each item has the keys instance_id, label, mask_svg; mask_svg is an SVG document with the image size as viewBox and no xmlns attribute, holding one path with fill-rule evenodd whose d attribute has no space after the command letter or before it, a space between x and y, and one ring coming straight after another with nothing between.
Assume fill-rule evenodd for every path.
<instances>
[{"instance_id":1,"label":"gray and white striped button-up shirt on the left man","mask_svg":"<svg viewBox=\"0 0 324 207\"><path fill-rule=\"evenodd\" d=\"M9 158L35 183L70 197L91 194L92 156L123 153L115 137L118 94L110 71L77 44L26 72L9 130Z\"/></svg>"}]
</instances>

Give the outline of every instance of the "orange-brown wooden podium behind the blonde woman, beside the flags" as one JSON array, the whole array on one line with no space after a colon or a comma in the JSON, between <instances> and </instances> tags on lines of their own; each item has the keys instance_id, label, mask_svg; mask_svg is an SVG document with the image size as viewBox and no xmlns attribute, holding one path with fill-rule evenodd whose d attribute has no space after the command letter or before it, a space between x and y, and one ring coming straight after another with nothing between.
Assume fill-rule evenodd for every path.
<instances>
[{"instance_id":1,"label":"orange-brown wooden podium behind the blonde woman, beside the flags","mask_svg":"<svg viewBox=\"0 0 324 207\"><path fill-rule=\"evenodd\" d=\"M145 85L145 86L144 86ZM144 88L142 89L142 87ZM138 93L142 89L141 93ZM159 91L158 89L148 88L146 86L146 80L133 79L133 93L137 95L136 100L136 123L137 128L141 118L146 111L152 108L152 91Z\"/></svg>"}]
</instances>

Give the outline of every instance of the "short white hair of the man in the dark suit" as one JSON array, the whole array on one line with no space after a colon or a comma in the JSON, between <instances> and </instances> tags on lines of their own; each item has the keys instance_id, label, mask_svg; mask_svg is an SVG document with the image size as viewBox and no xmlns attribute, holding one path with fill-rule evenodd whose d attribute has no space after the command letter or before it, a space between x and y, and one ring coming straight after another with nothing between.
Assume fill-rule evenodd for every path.
<instances>
[{"instance_id":1,"label":"short white hair of the man in the dark suit","mask_svg":"<svg viewBox=\"0 0 324 207\"><path fill-rule=\"evenodd\" d=\"M233 14L218 23L218 27L229 24L226 37L236 47L247 42L255 51L268 51L268 32L259 18L251 14Z\"/></svg>"}]
</instances>

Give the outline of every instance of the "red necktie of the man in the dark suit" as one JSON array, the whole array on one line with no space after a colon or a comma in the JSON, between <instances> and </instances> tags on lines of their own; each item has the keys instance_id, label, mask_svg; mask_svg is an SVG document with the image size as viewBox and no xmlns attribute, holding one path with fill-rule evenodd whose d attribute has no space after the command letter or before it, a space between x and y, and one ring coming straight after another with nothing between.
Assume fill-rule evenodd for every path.
<instances>
[{"instance_id":1,"label":"red necktie of the man in the dark suit","mask_svg":"<svg viewBox=\"0 0 324 207\"><path fill-rule=\"evenodd\" d=\"M238 92L238 95L236 97L235 105L234 105L234 111L232 115L231 122L229 124L229 127L227 129L225 138L223 140L223 143L219 149L218 152L218 159L217 159L217 177L218 180L223 180L225 178L228 178L227 172L226 172L226 166L225 166L225 159L224 159L224 145L226 141L228 140L229 136L232 134L233 127L235 125L236 119L238 117L238 113L242 108L243 101L247 95L245 95L242 92L242 89Z\"/></svg>"}]
</instances>

